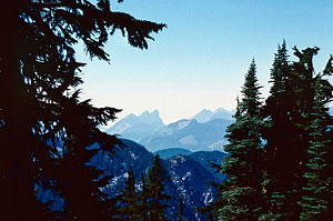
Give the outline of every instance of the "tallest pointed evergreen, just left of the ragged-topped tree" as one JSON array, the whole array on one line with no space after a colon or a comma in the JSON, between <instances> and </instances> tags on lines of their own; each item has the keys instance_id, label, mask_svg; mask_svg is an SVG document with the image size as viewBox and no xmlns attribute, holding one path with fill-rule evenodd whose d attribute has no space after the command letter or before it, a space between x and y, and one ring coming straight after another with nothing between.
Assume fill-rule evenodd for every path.
<instances>
[{"instance_id":1,"label":"tallest pointed evergreen, just left of the ragged-topped tree","mask_svg":"<svg viewBox=\"0 0 333 221\"><path fill-rule=\"evenodd\" d=\"M284 219L291 214L295 208L286 204L286 192L291 193L294 183L294 159L297 159L290 151L293 151L297 143L296 127L291 121L291 115L296 110L296 98L294 94L294 78L292 68L287 60L285 41L279 46L275 54L273 68L271 70L270 97L266 99L263 115L266 118L264 138L265 145L265 182L266 214L262 219L270 218ZM297 154L297 153L296 153ZM284 162L284 163L281 163ZM291 183L292 182L292 183Z\"/></svg>"}]
</instances>

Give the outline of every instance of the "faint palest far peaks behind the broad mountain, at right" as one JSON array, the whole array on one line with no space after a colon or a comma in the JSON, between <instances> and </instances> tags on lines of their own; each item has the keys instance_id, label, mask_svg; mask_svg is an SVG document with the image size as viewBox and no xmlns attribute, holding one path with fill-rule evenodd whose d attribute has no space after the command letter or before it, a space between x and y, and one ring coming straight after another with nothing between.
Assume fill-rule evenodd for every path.
<instances>
[{"instance_id":1,"label":"faint palest far peaks behind the broad mountain, at right","mask_svg":"<svg viewBox=\"0 0 333 221\"><path fill-rule=\"evenodd\" d=\"M196 113L192 119L195 119L198 122L204 123L211 121L213 119L224 119L224 120L232 120L232 115L234 114L235 110L229 111L223 108L219 108L215 111L211 111L208 109L203 109L199 113Z\"/></svg>"}]
</instances>

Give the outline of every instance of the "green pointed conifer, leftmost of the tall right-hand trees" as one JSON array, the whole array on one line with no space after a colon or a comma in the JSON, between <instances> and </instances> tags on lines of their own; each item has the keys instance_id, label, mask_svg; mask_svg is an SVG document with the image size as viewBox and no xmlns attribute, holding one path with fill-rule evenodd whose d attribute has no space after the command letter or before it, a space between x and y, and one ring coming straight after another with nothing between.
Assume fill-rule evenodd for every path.
<instances>
[{"instance_id":1,"label":"green pointed conifer, leftmost of the tall right-hand trees","mask_svg":"<svg viewBox=\"0 0 333 221\"><path fill-rule=\"evenodd\" d=\"M221 193L224 203L219 220L256 220L262 207L260 92L256 68L252 61L238 103L235 122L226 129L230 153L221 168L228 181Z\"/></svg>"}]
</instances>

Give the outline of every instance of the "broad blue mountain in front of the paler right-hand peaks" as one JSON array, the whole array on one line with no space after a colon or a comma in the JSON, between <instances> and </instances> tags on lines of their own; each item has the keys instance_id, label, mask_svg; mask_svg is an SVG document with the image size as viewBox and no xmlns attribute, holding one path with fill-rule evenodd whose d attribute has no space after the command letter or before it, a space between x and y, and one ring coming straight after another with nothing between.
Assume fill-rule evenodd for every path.
<instances>
[{"instance_id":1,"label":"broad blue mountain in front of the paler right-hand peaks","mask_svg":"<svg viewBox=\"0 0 333 221\"><path fill-rule=\"evenodd\" d=\"M163 127L153 135L140 141L149 151L182 148L190 151L221 150L226 143L225 129L232 120L214 119L200 123L195 119L180 120Z\"/></svg>"}]
</instances>

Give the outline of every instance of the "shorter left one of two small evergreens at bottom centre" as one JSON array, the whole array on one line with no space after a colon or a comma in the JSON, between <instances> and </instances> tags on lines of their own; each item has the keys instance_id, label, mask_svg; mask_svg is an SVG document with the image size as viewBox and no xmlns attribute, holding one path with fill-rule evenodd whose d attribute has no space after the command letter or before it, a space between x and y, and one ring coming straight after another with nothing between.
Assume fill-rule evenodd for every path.
<instances>
[{"instance_id":1,"label":"shorter left one of two small evergreens at bottom centre","mask_svg":"<svg viewBox=\"0 0 333 221\"><path fill-rule=\"evenodd\" d=\"M135 221L141 218L139 210L140 195L135 188L135 178L133 169L131 168L128 172L129 177L125 181L124 190L118 195L120 205L118 209L118 220Z\"/></svg>"}]
</instances>

